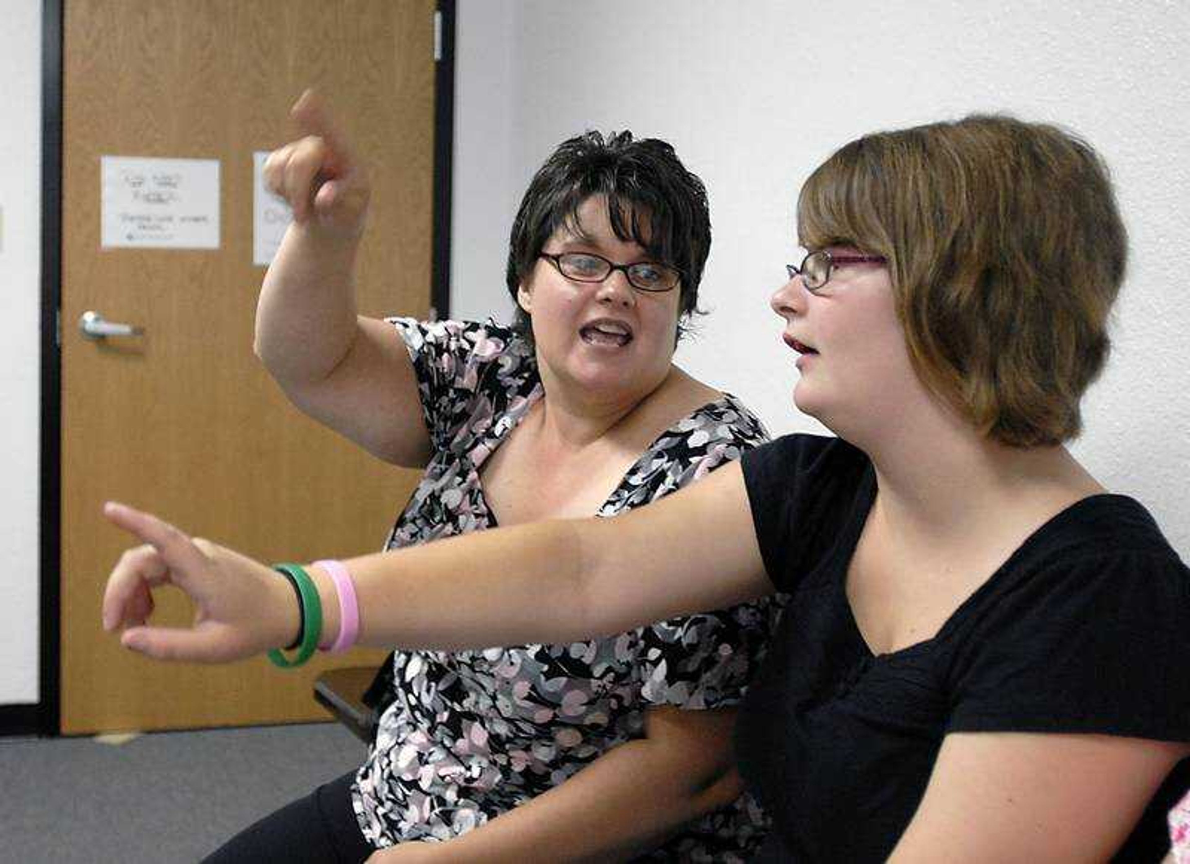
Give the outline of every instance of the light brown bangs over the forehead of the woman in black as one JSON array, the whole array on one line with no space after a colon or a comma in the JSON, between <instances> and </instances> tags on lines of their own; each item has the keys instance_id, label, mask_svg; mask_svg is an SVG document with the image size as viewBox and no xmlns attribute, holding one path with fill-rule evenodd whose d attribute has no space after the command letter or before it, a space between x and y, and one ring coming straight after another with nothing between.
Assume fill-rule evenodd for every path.
<instances>
[{"instance_id":1,"label":"light brown bangs over the forehead of the woman in black","mask_svg":"<svg viewBox=\"0 0 1190 864\"><path fill-rule=\"evenodd\" d=\"M891 258L889 190L860 138L837 151L810 175L797 196L797 242L807 250L853 246ZM865 152L866 151L866 152Z\"/></svg>"}]
</instances>

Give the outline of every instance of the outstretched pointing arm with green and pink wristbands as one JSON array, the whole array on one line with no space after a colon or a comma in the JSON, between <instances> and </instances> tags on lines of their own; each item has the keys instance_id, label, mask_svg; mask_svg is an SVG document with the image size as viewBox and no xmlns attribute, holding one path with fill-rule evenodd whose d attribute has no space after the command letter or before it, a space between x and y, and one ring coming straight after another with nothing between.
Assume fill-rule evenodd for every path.
<instances>
[{"instance_id":1,"label":"outstretched pointing arm with green and pink wristbands","mask_svg":"<svg viewBox=\"0 0 1190 864\"><path fill-rule=\"evenodd\" d=\"M124 628L125 646L218 663L293 641L298 601L270 568L146 513L120 505L105 513L146 544L125 552L104 596L104 626ZM361 641L411 649L574 641L772 590L738 463L614 519L483 531L346 564ZM339 626L334 588L320 568L311 576L330 643ZM142 626L162 584L194 600L193 627Z\"/></svg>"}]
</instances>

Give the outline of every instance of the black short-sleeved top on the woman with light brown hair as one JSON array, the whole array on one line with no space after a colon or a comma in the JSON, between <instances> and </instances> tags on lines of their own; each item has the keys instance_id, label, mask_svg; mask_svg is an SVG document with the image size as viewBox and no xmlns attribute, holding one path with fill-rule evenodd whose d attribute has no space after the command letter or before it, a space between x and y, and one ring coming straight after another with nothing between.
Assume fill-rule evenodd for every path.
<instances>
[{"instance_id":1,"label":"black short-sleeved top on the woman with light brown hair","mask_svg":"<svg viewBox=\"0 0 1190 864\"><path fill-rule=\"evenodd\" d=\"M873 656L845 593L871 462L838 438L787 436L743 467L765 568L791 595L737 727L744 780L774 819L759 860L884 860L948 732L1190 740L1190 570L1136 501L1075 503L934 638ZM1161 858L1188 788L1184 759L1117 859Z\"/></svg>"}]
</instances>

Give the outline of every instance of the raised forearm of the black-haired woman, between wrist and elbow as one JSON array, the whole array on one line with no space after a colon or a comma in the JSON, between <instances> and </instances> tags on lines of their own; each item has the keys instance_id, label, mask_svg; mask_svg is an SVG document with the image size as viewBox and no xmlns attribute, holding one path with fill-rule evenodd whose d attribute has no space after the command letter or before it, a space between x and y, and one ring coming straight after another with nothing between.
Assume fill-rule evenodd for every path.
<instances>
[{"instance_id":1,"label":"raised forearm of the black-haired woman, between wrist and elbow","mask_svg":"<svg viewBox=\"0 0 1190 864\"><path fill-rule=\"evenodd\" d=\"M327 237L309 221L286 232L261 287L255 344L282 386L326 377L350 350L358 243Z\"/></svg>"}]
</instances>

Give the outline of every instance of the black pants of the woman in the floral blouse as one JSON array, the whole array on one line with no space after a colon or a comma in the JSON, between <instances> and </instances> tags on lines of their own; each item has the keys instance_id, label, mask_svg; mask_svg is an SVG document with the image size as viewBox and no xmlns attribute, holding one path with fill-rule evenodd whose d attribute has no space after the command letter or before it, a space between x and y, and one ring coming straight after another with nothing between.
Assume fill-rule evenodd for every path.
<instances>
[{"instance_id":1,"label":"black pants of the woman in the floral blouse","mask_svg":"<svg viewBox=\"0 0 1190 864\"><path fill-rule=\"evenodd\" d=\"M361 833L351 807L355 776L355 771L349 771L244 828L207 857L206 864L357 864L365 860L376 850Z\"/></svg>"}]
</instances>

